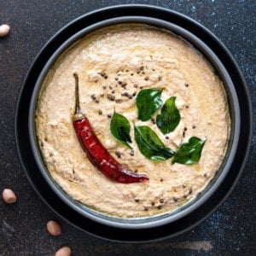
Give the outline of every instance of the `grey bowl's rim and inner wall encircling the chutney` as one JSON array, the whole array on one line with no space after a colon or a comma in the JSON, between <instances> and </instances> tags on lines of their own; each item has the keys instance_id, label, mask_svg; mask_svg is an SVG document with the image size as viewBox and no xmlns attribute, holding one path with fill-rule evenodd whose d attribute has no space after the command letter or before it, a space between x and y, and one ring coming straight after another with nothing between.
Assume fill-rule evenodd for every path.
<instances>
[{"instance_id":1,"label":"grey bowl's rim and inner wall encircling the chutney","mask_svg":"<svg viewBox=\"0 0 256 256\"><path fill-rule=\"evenodd\" d=\"M207 185L207 188L198 195L194 200L189 201L189 203L183 205L183 207L177 208L172 212L167 212L165 214L160 214L148 218L113 218L107 215L104 215L100 212L91 210L89 207L85 207L78 201L74 201L69 195L67 195L55 181L49 175L46 166L44 165L44 160L41 156L40 150L38 148L38 140L36 136L35 129L35 111L38 102L38 94L41 90L42 84L44 82L46 74L49 72L49 69L54 65L58 57L67 50L71 45L77 42L80 38L84 38L85 35L90 32L94 32L105 26L112 26L115 24L123 23L141 23L149 26L159 27L161 29L166 29L169 32L174 33L183 40L187 41L188 44L191 44L195 49L201 52L207 60L212 64L216 73L218 73L219 78L224 82L224 89L227 94L228 104L230 108L230 142L225 154L224 161L219 168L219 171L212 179L212 181ZM41 71L37 83L33 89L32 100L29 110L29 135L30 143L32 144L32 152L34 158L37 161L38 168L44 179L49 183L51 189L55 191L55 194L63 201L68 207L73 208L74 211L79 212L86 218L90 218L93 221L96 221L101 224L106 224L108 226L123 228L123 229L141 229L141 228L152 228L160 225L168 224L175 222L177 219L183 218L188 215L190 212L195 211L198 207L204 204L205 201L218 189L219 185L223 182L224 177L230 170L230 166L234 160L236 154L237 143L240 132L240 108L239 102L236 96L236 90L234 84L230 79L229 73L226 71L223 63L218 59L217 55L214 54L212 49L210 49L207 44L201 41L200 38L195 37L191 32L185 30L181 26L172 24L171 22L166 22L164 20L148 18L143 16L125 16L120 18L114 18L109 20L103 20L97 22L94 25L87 26L81 31L75 33L71 38L61 44L55 54L49 58L43 70Z\"/></svg>"}]
</instances>

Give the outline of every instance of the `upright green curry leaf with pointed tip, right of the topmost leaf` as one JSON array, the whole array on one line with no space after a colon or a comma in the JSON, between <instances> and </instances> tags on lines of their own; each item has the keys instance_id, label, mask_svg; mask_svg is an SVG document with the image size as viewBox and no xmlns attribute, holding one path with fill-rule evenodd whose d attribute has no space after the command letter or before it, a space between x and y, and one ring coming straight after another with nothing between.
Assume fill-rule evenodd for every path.
<instances>
[{"instance_id":1,"label":"upright green curry leaf with pointed tip, right of the topmost leaf","mask_svg":"<svg viewBox=\"0 0 256 256\"><path fill-rule=\"evenodd\" d=\"M173 131L180 121L180 113L175 100L176 97L169 98L161 109L161 113L156 116L156 125L163 134Z\"/></svg>"}]
</instances>

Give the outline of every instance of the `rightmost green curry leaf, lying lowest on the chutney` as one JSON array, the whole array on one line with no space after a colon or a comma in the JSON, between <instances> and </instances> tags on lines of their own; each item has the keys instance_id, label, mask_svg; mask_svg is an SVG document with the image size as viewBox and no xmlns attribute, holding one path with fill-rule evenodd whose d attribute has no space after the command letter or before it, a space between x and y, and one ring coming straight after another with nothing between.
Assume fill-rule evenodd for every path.
<instances>
[{"instance_id":1,"label":"rightmost green curry leaf, lying lowest on the chutney","mask_svg":"<svg viewBox=\"0 0 256 256\"><path fill-rule=\"evenodd\" d=\"M183 165L193 165L201 158L201 151L206 140L201 140L198 137L190 137L188 143L183 143L177 149L177 153L172 159L172 164L179 163Z\"/></svg>"}]
</instances>

